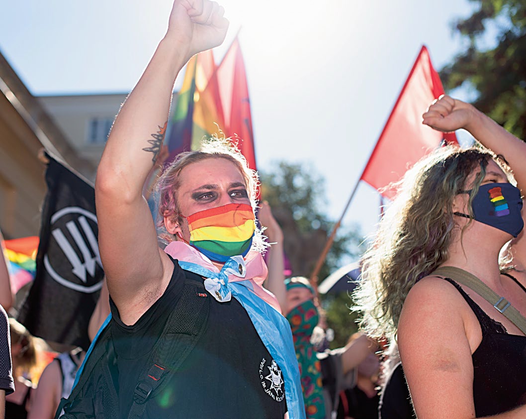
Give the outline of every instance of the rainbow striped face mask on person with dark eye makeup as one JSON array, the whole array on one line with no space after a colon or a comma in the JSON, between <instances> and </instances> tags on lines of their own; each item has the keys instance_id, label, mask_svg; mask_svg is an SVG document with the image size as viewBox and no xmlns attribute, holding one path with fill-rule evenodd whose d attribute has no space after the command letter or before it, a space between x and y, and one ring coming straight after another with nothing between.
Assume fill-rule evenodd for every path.
<instances>
[{"instance_id":1,"label":"rainbow striped face mask on person with dark eye makeup","mask_svg":"<svg viewBox=\"0 0 526 419\"><path fill-rule=\"evenodd\" d=\"M256 231L254 211L248 204L227 204L186 217L190 246L211 261L226 262L246 256Z\"/></svg>"}]
</instances>

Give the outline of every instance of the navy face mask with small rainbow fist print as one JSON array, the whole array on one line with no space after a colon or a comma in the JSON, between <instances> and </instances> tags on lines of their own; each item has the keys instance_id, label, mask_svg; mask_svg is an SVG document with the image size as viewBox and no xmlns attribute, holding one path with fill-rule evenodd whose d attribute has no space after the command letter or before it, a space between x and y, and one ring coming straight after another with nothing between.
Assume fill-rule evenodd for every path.
<instances>
[{"instance_id":1,"label":"navy face mask with small rainbow fist print","mask_svg":"<svg viewBox=\"0 0 526 419\"><path fill-rule=\"evenodd\" d=\"M461 193L471 193L462 191ZM479 187L471 203L473 219L498 228L517 237L524 227L522 220L522 198L519 188L511 183L489 183ZM454 215L471 218L467 214L454 212Z\"/></svg>"}]
</instances>

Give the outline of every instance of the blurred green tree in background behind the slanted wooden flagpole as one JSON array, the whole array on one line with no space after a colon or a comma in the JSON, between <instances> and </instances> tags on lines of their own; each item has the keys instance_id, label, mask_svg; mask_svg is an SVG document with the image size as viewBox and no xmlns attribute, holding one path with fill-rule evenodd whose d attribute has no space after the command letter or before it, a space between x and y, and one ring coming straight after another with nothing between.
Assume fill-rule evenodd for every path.
<instances>
[{"instance_id":1,"label":"blurred green tree in background behind the slanted wooden flagpole","mask_svg":"<svg viewBox=\"0 0 526 419\"><path fill-rule=\"evenodd\" d=\"M323 210L327 206L325 179L311 165L299 163L278 162L271 171L259 172L262 199L269 202L283 230L291 276L309 277L335 224ZM365 250L362 241L358 226L341 226L318 275L319 281L346 263L358 260ZM345 345L357 331L357 314L349 309L353 305L350 296L340 293L320 295L320 299L327 312L328 327L335 331L331 347Z\"/></svg>"}]
</instances>

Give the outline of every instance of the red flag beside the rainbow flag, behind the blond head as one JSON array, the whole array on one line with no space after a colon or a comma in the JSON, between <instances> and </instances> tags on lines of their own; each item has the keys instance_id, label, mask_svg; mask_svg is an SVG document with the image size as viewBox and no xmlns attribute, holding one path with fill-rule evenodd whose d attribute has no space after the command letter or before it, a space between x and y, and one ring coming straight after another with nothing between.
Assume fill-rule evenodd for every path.
<instances>
[{"instance_id":1,"label":"red flag beside the rainbow flag, behind the blond head","mask_svg":"<svg viewBox=\"0 0 526 419\"><path fill-rule=\"evenodd\" d=\"M247 76L237 37L218 67L217 78L226 125L225 135L237 140L237 146L247 159L248 166L256 170Z\"/></svg>"}]
</instances>

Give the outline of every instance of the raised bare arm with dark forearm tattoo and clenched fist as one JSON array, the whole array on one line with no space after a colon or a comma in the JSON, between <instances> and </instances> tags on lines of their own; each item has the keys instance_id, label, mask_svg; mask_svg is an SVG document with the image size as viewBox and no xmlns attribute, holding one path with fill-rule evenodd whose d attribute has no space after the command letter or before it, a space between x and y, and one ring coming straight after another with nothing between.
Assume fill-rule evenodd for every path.
<instances>
[{"instance_id":1,"label":"raised bare arm with dark forearm tattoo and clenched fist","mask_svg":"<svg viewBox=\"0 0 526 419\"><path fill-rule=\"evenodd\" d=\"M209 0L175 0L168 31L115 119L95 184L99 247L108 290L134 323L169 282L142 188L163 143L175 78L188 59L219 45L228 21Z\"/></svg>"}]
</instances>

